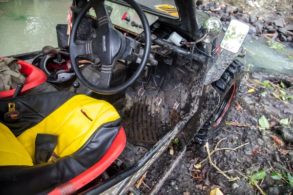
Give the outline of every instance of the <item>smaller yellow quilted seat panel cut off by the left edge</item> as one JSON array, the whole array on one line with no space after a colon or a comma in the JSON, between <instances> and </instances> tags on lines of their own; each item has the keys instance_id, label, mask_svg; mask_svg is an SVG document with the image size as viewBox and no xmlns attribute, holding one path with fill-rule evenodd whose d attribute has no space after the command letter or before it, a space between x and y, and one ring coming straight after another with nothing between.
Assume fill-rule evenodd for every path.
<instances>
[{"instance_id":1,"label":"smaller yellow quilted seat panel cut off by the left edge","mask_svg":"<svg viewBox=\"0 0 293 195\"><path fill-rule=\"evenodd\" d=\"M0 123L0 166L27 165L32 166L33 160L12 132Z\"/></svg>"}]
</instances>

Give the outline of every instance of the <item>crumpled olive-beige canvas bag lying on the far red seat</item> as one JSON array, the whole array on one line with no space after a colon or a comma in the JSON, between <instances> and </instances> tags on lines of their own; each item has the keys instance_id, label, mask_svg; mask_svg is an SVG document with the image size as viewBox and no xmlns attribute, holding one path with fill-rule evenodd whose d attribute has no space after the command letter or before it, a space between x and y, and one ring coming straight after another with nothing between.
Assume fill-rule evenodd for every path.
<instances>
[{"instance_id":1,"label":"crumpled olive-beige canvas bag lying on the far red seat","mask_svg":"<svg viewBox=\"0 0 293 195\"><path fill-rule=\"evenodd\" d=\"M0 92L17 88L19 83L25 84L25 77L21 75L19 59L0 59Z\"/></svg>"}]
</instances>

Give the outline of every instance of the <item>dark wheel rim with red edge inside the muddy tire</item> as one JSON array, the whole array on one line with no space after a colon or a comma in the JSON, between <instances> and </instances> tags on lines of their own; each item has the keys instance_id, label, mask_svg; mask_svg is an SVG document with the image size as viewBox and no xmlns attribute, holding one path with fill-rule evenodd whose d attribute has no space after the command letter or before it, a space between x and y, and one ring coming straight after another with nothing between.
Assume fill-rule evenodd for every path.
<instances>
[{"instance_id":1,"label":"dark wheel rim with red edge inside the muddy tire","mask_svg":"<svg viewBox=\"0 0 293 195\"><path fill-rule=\"evenodd\" d=\"M236 89L236 83L234 83L228 93L226 94L225 98L223 99L220 107L219 107L219 110L215 116L215 119L214 119L214 122L213 122L213 127L217 126L223 119L223 117L225 116L228 108L230 107L230 104L231 104L231 101L234 97L234 92L235 92L235 89Z\"/></svg>"}]
</instances>

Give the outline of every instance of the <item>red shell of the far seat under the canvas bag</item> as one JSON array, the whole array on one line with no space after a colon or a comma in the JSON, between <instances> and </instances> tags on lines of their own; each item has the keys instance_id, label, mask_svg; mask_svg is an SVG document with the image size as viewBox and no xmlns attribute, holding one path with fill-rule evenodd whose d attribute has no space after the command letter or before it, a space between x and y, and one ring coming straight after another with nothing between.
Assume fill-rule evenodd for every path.
<instances>
[{"instance_id":1,"label":"red shell of the far seat under the canvas bag","mask_svg":"<svg viewBox=\"0 0 293 195\"><path fill-rule=\"evenodd\" d=\"M20 73L27 75L25 85L21 90L21 95L46 81L47 76L39 68L22 60L18 60L17 63L21 65ZM0 92L0 98L11 98L14 92L15 89Z\"/></svg>"}]
</instances>

